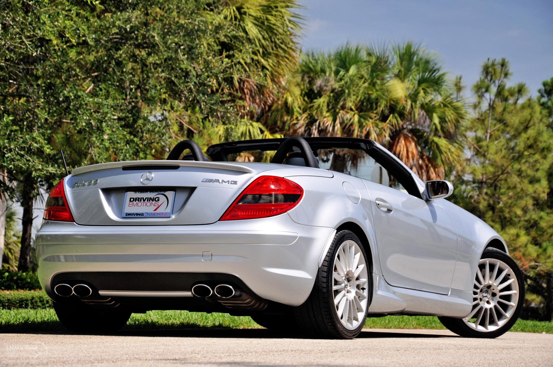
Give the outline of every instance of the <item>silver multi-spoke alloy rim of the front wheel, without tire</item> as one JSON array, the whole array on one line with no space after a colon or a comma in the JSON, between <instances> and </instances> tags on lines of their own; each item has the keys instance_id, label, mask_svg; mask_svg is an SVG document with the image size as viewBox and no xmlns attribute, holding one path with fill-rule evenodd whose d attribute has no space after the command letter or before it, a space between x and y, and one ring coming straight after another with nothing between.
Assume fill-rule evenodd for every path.
<instances>
[{"instance_id":1,"label":"silver multi-spoke alloy rim of the front wheel, without tire","mask_svg":"<svg viewBox=\"0 0 553 367\"><path fill-rule=\"evenodd\" d=\"M463 319L478 331L494 331L517 309L518 282L513 269L498 259L482 259L474 280L472 311Z\"/></svg>"}]
</instances>

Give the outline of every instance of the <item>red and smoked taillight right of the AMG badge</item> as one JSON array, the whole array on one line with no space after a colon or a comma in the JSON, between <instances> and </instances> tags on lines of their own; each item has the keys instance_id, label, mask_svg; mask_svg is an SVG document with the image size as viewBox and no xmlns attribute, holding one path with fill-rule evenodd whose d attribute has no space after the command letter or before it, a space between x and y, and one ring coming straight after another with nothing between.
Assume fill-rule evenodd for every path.
<instances>
[{"instance_id":1,"label":"red and smoked taillight right of the AMG badge","mask_svg":"<svg viewBox=\"0 0 553 367\"><path fill-rule=\"evenodd\" d=\"M304 189L276 176L261 176L244 189L220 221L272 217L298 205Z\"/></svg>"}]
</instances>

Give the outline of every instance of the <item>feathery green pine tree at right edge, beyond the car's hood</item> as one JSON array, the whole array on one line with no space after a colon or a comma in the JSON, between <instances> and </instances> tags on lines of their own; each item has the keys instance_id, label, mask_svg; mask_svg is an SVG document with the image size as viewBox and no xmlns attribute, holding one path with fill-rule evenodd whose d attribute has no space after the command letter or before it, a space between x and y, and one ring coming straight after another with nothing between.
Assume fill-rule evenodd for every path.
<instances>
[{"instance_id":1,"label":"feathery green pine tree at right edge, beyond the car's hood","mask_svg":"<svg viewBox=\"0 0 553 367\"><path fill-rule=\"evenodd\" d=\"M508 86L505 59L488 59L473 86L468 158L456 179L456 203L500 233L529 279L528 300L546 302L551 287L530 281L553 270L553 210L547 172L553 164L553 132L528 88ZM551 302L551 301L549 301ZM551 319L551 304L547 308Z\"/></svg>"}]
</instances>

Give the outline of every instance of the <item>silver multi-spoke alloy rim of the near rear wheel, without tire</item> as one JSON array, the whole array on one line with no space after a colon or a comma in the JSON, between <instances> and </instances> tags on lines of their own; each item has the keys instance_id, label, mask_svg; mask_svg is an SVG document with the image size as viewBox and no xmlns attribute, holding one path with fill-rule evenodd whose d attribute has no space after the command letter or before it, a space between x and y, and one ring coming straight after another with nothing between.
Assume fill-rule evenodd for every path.
<instances>
[{"instance_id":1,"label":"silver multi-spoke alloy rim of the near rear wheel, without tire","mask_svg":"<svg viewBox=\"0 0 553 367\"><path fill-rule=\"evenodd\" d=\"M369 294L367 279L361 247L353 240L346 240L334 257L332 293L336 314L348 330L364 322Z\"/></svg>"}]
</instances>

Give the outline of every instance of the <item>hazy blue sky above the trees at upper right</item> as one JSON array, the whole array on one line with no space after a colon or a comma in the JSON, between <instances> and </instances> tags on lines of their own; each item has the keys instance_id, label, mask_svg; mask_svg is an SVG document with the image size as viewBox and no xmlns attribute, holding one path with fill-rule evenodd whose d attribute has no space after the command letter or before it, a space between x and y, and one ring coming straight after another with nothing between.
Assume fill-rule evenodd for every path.
<instances>
[{"instance_id":1,"label":"hazy blue sky above the trees at upper right","mask_svg":"<svg viewBox=\"0 0 553 367\"><path fill-rule=\"evenodd\" d=\"M304 50L349 43L414 40L440 54L451 78L469 89L488 57L511 63L511 82L535 96L553 77L553 0L300 0L306 6Z\"/></svg>"}]
</instances>

